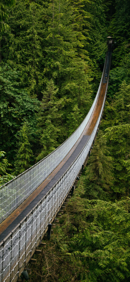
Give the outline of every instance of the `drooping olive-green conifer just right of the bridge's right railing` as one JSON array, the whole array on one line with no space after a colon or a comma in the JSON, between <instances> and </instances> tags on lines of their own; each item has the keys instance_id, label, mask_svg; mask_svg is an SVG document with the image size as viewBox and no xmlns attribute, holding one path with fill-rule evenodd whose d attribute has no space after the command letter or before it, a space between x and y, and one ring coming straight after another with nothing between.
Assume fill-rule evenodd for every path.
<instances>
[{"instance_id":1,"label":"drooping olive-green conifer just right of the bridge's right railing","mask_svg":"<svg viewBox=\"0 0 130 282\"><path fill-rule=\"evenodd\" d=\"M91 152L89 165L86 169L86 193L91 199L91 195L97 198L100 193L110 192L113 187L113 164L112 157L106 145L107 140L103 137L103 132L100 131L94 148Z\"/></svg>"}]
</instances>

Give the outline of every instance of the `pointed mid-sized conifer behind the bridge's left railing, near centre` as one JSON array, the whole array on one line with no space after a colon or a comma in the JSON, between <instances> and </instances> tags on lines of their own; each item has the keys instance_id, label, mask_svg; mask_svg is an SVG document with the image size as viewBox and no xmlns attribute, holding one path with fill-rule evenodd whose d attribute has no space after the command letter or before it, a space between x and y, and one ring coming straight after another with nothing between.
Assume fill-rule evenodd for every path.
<instances>
[{"instance_id":1,"label":"pointed mid-sized conifer behind the bridge's left railing, near centre","mask_svg":"<svg viewBox=\"0 0 130 282\"><path fill-rule=\"evenodd\" d=\"M63 99L57 99L58 88L51 79L43 91L43 99L38 118L38 133L41 144L41 152L37 160L42 159L58 146L58 135L60 132L60 108L63 107Z\"/></svg>"}]
</instances>

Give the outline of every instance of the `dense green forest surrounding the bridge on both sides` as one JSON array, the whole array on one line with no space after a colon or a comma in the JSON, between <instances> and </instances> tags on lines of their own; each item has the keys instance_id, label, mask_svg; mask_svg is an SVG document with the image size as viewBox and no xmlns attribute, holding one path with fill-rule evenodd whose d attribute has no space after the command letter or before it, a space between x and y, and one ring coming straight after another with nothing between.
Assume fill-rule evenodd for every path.
<instances>
[{"instance_id":1,"label":"dense green forest surrounding the bridge on both sides","mask_svg":"<svg viewBox=\"0 0 130 282\"><path fill-rule=\"evenodd\" d=\"M108 35L116 44L100 132L30 282L130 280L130 2L0 3L0 185L82 122Z\"/></svg>"}]
</instances>

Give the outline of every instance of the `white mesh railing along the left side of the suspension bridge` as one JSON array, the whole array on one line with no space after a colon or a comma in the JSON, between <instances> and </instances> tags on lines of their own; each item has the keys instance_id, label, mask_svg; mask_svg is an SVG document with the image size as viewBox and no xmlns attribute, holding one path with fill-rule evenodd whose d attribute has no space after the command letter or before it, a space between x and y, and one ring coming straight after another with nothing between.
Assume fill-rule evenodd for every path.
<instances>
[{"instance_id":1,"label":"white mesh railing along the left side of the suspension bridge","mask_svg":"<svg viewBox=\"0 0 130 282\"><path fill-rule=\"evenodd\" d=\"M100 86L101 82L91 109L75 132L52 153L0 187L0 223L33 193L72 149L91 117Z\"/></svg>"}]
</instances>

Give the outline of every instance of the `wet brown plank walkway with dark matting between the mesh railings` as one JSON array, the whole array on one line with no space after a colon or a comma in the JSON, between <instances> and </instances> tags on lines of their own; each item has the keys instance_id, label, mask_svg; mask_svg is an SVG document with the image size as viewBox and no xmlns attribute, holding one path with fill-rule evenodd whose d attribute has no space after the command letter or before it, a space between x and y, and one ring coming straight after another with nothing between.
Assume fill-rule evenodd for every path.
<instances>
[{"instance_id":1,"label":"wet brown plank walkway with dark matting between the mesh railings","mask_svg":"<svg viewBox=\"0 0 130 282\"><path fill-rule=\"evenodd\" d=\"M106 65L104 68L105 72L108 73L109 65L110 65L110 56L108 51L108 59L106 61ZM26 214L33 209L33 207L39 202L40 199L50 190L50 188L57 182L57 180L63 175L63 173L67 170L67 168L72 164L72 162L76 159L84 145L87 143L89 136L91 135L94 126L97 122L98 116L101 111L101 107L104 100L104 95L106 91L107 83L105 83L105 78L103 75L99 95L97 102L95 104L92 115L80 135L80 138L77 140L73 148L67 154L67 156L62 160L62 162L54 169L54 171L43 181L41 185L15 210L13 211L9 217L7 217L0 224L0 241L2 241L10 231L15 228L15 226L26 216Z\"/></svg>"}]
</instances>

